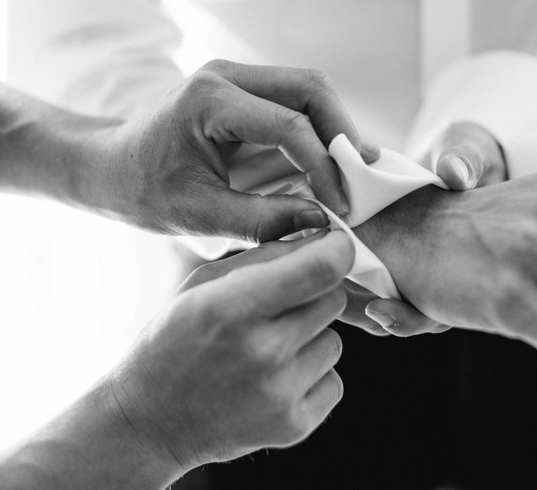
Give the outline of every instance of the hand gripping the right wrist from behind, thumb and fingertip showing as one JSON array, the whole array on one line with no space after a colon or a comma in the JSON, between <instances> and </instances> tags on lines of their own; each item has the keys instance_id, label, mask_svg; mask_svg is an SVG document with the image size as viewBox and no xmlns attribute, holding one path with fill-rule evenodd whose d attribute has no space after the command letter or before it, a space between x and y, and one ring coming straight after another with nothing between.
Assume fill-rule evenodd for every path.
<instances>
[{"instance_id":1,"label":"hand gripping the right wrist from behind, thumb and fingertip showing","mask_svg":"<svg viewBox=\"0 0 537 490\"><path fill-rule=\"evenodd\" d=\"M492 134L475 123L454 123L434 142L422 163L436 161L436 172L452 190L470 190L475 186L489 186L507 179L506 162L501 147ZM433 168L435 165L433 165ZM356 302L352 323L364 324L366 330L376 335L408 337L420 333L441 333L449 330L427 318L410 304L368 296L371 302ZM366 297L367 299L367 297ZM352 300L349 300L352 304ZM373 320L373 323L371 323Z\"/></svg>"}]
</instances>

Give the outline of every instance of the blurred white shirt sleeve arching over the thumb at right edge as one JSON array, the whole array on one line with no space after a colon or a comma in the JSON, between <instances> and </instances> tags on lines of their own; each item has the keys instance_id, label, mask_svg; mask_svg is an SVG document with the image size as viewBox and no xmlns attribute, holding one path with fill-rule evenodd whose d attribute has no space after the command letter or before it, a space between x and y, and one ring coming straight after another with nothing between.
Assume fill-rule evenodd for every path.
<instances>
[{"instance_id":1,"label":"blurred white shirt sleeve arching over the thumb at right edge","mask_svg":"<svg viewBox=\"0 0 537 490\"><path fill-rule=\"evenodd\" d=\"M464 121L496 138L510 178L537 172L537 58L496 51L448 66L425 94L406 153L421 160L447 126Z\"/></svg>"}]
</instances>

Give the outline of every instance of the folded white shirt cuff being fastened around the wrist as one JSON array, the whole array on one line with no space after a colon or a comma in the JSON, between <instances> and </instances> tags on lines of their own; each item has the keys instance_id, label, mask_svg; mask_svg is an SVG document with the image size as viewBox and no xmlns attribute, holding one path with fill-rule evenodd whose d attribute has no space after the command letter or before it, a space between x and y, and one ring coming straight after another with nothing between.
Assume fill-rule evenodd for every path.
<instances>
[{"instance_id":1,"label":"folded white shirt cuff being fastened around the wrist","mask_svg":"<svg viewBox=\"0 0 537 490\"><path fill-rule=\"evenodd\" d=\"M410 158L382 148L379 160L367 165L344 134L336 136L329 153L338 163L341 184L350 205L346 223L324 204L315 200L305 181L296 184L289 194L313 200L328 215L330 228L343 230L355 246L355 262L347 276L380 297L401 299L392 276L380 259L352 232L354 228L399 198L429 184L448 189L437 175Z\"/></svg>"}]
</instances>

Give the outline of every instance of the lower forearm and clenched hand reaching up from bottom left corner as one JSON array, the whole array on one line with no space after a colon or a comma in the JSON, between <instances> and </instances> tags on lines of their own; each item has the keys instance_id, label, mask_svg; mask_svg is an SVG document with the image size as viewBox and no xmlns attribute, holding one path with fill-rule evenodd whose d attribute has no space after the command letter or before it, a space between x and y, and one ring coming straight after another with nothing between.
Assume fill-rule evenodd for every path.
<instances>
[{"instance_id":1,"label":"lower forearm and clenched hand reaching up from bottom left corner","mask_svg":"<svg viewBox=\"0 0 537 490\"><path fill-rule=\"evenodd\" d=\"M195 272L106 377L3 458L2 488L162 489L315 430L343 395L327 325L352 244L320 232L243 258Z\"/></svg>"}]
</instances>

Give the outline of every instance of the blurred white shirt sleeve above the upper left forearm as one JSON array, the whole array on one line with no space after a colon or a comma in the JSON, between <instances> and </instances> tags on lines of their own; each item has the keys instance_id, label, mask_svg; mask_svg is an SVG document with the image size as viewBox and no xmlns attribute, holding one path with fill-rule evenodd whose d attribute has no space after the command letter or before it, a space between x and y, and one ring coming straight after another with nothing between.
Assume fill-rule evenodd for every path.
<instances>
[{"instance_id":1,"label":"blurred white shirt sleeve above the upper left forearm","mask_svg":"<svg viewBox=\"0 0 537 490\"><path fill-rule=\"evenodd\" d=\"M127 117L181 80L158 0L8 0L8 83L73 111Z\"/></svg>"}]
</instances>

